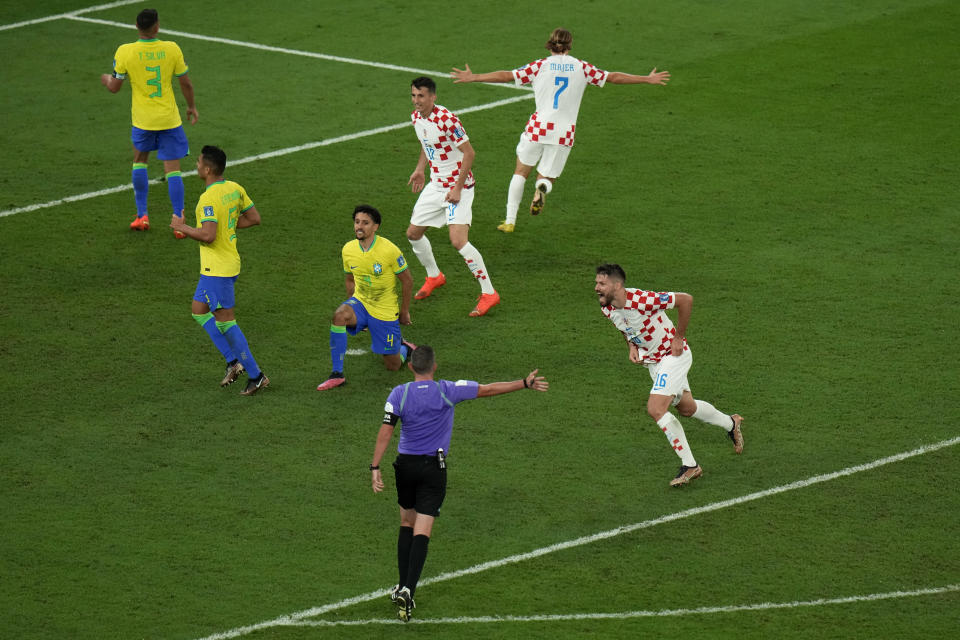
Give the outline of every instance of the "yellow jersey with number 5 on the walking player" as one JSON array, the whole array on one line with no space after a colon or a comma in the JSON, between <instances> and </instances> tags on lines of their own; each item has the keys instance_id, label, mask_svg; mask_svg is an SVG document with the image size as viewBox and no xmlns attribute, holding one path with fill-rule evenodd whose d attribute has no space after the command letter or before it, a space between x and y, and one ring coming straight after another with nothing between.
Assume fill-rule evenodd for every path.
<instances>
[{"instance_id":1,"label":"yellow jersey with number 5 on the walking player","mask_svg":"<svg viewBox=\"0 0 960 640\"><path fill-rule=\"evenodd\" d=\"M217 223L217 237L200 243L200 274L230 277L240 273L237 252L237 220L253 206L243 187L230 180L214 182L197 201L197 228L204 222Z\"/></svg>"}]
</instances>

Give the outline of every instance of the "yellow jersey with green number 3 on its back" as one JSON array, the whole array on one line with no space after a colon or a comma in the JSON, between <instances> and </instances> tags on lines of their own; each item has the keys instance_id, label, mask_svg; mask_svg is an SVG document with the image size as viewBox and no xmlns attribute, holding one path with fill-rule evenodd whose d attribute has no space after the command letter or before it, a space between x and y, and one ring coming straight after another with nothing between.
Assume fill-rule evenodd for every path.
<instances>
[{"instance_id":1,"label":"yellow jersey with green number 3 on its back","mask_svg":"<svg viewBox=\"0 0 960 640\"><path fill-rule=\"evenodd\" d=\"M163 131L183 123L173 95L173 78L188 70L176 42L137 40L120 45L113 54L113 72L118 78L130 78L133 126Z\"/></svg>"}]
</instances>

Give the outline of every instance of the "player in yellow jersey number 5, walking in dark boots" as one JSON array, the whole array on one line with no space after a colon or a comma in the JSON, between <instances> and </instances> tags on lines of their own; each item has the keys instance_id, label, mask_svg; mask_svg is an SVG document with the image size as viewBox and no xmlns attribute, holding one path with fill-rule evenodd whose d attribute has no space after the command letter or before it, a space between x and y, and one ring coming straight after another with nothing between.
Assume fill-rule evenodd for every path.
<instances>
[{"instance_id":1,"label":"player in yellow jersey number 5, walking in dark boots","mask_svg":"<svg viewBox=\"0 0 960 640\"><path fill-rule=\"evenodd\" d=\"M243 187L223 179L226 167L227 154L222 149L203 148L197 159L197 175L207 189L197 202L197 226L188 226L183 216L174 215L170 228L200 243L200 281L190 310L227 361L220 386L231 384L246 371L247 386L240 393L252 396L270 384L270 379L260 371L246 336L237 326L233 285L240 275L237 229L260 224L260 212Z\"/></svg>"}]
</instances>

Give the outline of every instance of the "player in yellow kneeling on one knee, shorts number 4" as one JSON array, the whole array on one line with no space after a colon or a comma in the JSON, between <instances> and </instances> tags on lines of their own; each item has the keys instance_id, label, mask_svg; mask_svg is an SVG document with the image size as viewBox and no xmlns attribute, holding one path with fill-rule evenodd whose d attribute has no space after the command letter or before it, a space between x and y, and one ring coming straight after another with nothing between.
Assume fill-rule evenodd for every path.
<instances>
[{"instance_id":1,"label":"player in yellow kneeling on one knee, shorts number 4","mask_svg":"<svg viewBox=\"0 0 960 640\"><path fill-rule=\"evenodd\" d=\"M348 333L355 336L369 329L370 348L383 355L383 364L390 371L398 371L416 348L400 335L400 325L410 324L413 278L397 245L377 235L380 221L380 212L368 204L357 205L353 210L356 239L343 245L342 251L347 299L337 307L330 324L333 371L317 391L339 387L346 381L343 356L347 352Z\"/></svg>"}]
</instances>

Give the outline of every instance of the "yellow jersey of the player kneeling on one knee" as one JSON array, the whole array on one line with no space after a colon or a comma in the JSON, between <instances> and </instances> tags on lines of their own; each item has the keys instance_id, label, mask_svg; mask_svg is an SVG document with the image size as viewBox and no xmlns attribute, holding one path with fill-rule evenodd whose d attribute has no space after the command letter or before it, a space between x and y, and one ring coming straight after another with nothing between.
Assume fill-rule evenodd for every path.
<instances>
[{"instance_id":1,"label":"yellow jersey of the player kneeling on one knee","mask_svg":"<svg viewBox=\"0 0 960 640\"><path fill-rule=\"evenodd\" d=\"M359 240L343 245L343 270L353 275L356 284L353 296L378 320L400 317L397 274L406 268L403 253L386 238L375 236L368 251Z\"/></svg>"}]
</instances>

